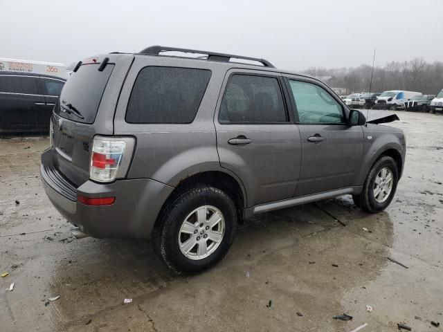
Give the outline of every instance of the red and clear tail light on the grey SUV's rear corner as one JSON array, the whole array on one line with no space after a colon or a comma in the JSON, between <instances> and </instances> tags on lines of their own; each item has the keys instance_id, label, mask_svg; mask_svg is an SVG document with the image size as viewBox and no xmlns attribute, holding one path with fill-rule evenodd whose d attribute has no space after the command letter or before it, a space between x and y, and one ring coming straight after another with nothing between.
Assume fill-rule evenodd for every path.
<instances>
[{"instance_id":1,"label":"red and clear tail light on the grey SUV's rear corner","mask_svg":"<svg viewBox=\"0 0 443 332\"><path fill-rule=\"evenodd\" d=\"M95 136L91 153L90 178L107 183L124 178L134 152L132 137Z\"/></svg>"}]
</instances>

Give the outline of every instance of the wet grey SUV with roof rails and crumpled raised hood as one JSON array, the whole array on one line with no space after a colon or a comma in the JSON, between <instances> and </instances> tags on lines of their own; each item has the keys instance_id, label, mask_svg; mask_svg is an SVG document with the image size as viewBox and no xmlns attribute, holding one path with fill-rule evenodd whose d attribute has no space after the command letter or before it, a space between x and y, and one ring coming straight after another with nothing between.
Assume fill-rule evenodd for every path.
<instances>
[{"instance_id":1,"label":"wet grey SUV with roof rails and crumpled raised hood","mask_svg":"<svg viewBox=\"0 0 443 332\"><path fill-rule=\"evenodd\" d=\"M152 238L176 273L199 273L253 214L345 194L385 209L405 139L379 125L394 113L370 112L264 59L161 46L98 55L55 105L42 183L75 237Z\"/></svg>"}]
</instances>

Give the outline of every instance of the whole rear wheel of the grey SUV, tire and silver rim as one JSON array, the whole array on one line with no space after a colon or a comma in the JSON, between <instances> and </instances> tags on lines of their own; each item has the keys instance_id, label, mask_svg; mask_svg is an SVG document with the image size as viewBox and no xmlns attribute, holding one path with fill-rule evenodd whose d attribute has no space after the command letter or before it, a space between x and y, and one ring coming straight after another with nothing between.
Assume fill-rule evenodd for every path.
<instances>
[{"instance_id":1,"label":"whole rear wheel of the grey SUV, tire and silver rim","mask_svg":"<svg viewBox=\"0 0 443 332\"><path fill-rule=\"evenodd\" d=\"M177 274L192 275L220 261L233 242L237 211L215 187L183 190L163 208L154 229L154 249Z\"/></svg>"}]
</instances>

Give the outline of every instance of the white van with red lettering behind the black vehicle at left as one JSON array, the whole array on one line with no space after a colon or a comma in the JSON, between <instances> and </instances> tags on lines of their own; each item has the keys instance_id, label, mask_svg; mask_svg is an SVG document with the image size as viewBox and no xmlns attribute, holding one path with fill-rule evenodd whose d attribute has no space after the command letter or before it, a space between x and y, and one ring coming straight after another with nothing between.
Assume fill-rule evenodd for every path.
<instances>
[{"instance_id":1,"label":"white van with red lettering behind the black vehicle at left","mask_svg":"<svg viewBox=\"0 0 443 332\"><path fill-rule=\"evenodd\" d=\"M53 62L6 59L0 57L0 72L1 71L51 75L60 77L63 80L67 78L66 66Z\"/></svg>"}]
</instances>

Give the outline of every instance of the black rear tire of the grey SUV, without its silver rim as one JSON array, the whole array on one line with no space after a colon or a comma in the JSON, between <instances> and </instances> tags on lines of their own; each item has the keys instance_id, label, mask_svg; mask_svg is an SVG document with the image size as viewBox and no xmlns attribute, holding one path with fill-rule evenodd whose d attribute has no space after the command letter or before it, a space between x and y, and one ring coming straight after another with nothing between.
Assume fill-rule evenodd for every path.
<instances>
[{"instance_id":1,"label":"black rear tire of the grey SUV, without its silver rim","mask_svg":"<svg viewBox=\"0 0 443 332\"><path fill-rule=\"evenodd\" d=\"M221 243L208 257L193 260L181 252L179 232L186 216L204 205L211 205L221 212L224 217L224 235ZM215 266L226 255L236 230L237 211L233 200L218 188L195 185L181 190L166 203L154 228L154 250L174 273L193 275Z\"/></svg>"}]
</instances>

